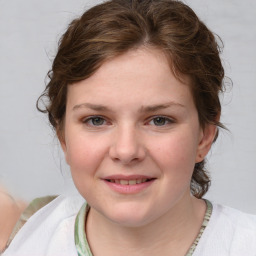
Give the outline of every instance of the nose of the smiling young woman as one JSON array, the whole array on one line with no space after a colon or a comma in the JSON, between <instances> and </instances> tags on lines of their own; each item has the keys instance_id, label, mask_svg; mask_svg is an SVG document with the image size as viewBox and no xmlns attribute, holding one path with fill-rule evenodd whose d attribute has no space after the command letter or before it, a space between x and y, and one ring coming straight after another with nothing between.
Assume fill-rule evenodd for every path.
<instances>
[{"instance_id":1,"label":"nose of the smiling young woman","mask_svg":"<svg viewBox=\"0 0 256 256\"><path fill-rule=\"evenodd\" d=\"M115 162L125 165L142 161L146 156L146 149L140 134L135 127L116 128L109 155Z\"/></svg>"}]
</instances>

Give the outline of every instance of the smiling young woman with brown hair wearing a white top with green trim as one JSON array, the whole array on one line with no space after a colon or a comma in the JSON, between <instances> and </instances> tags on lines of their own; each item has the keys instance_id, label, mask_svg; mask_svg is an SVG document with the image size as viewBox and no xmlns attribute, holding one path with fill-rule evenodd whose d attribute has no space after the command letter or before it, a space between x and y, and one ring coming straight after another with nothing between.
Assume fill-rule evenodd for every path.
<instances>
[{"instance_id":1,"label":"smiling young woman with brown hair wearing a white top with green trim","mask_svg":"<svg viewBox=\"0 0 256 256\"><path fill-rule=\"evenodd\" d=\"M255 255L256 217L202 199L223 127L218 40L173 0L107 1L74 20L41 111L82 197L33 202L25 214L47 204L3 255Z\"/></svg>"}]
</instances>

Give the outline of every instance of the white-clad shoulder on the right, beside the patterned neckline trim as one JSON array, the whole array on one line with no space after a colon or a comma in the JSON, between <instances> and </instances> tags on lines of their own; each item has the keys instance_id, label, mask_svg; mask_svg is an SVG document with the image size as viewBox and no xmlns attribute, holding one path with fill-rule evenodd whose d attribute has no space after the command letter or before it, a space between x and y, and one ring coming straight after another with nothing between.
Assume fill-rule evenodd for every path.
<instances>
[{"instance_id":1,"label":"white-clad shoulder on the right, beside the patterned neckline trim","mask_svg":"<svg viewBox=\"0 0 256 256\"><path fill-rule=\"evenodd\" d=\"M196 255L256 256L256 216L213 203Z\"/></svg>"}]
</instances>

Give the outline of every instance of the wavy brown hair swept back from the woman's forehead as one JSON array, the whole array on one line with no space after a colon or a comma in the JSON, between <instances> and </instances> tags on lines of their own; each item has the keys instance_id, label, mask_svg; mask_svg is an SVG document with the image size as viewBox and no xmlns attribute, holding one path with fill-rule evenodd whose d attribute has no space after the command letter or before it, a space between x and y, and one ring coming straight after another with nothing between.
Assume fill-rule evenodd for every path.
<instances>
[{"instance_id":1,"label":"wavy brown hair swept back from the woman's forehead","mask_svg":"<svg viewBox=\"0 0 256 256\"><path fill-rule=\"evenodd\" d=\"M177 78L188 75L202 127L219 121L224 70L213 33L193 10L175 0L111 0L86 11L61 37L49 83L37 107L63 128L67 87L90 77L104 61L140 46L161 49ZM46 97L45 109L39 107ZM217 138L217 135L216 135ZM204 161L195 164L191 193L201 198L210 185Z\"/></svg>"}]
</instances>

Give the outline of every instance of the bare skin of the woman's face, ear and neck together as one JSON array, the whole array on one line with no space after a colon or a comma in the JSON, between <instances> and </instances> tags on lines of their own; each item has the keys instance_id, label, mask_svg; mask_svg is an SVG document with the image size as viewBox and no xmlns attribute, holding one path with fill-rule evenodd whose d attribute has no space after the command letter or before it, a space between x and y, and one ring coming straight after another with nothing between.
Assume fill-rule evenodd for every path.
<instances>
[{"instance_id":1,"label":"bare skin of the woman's face, ear and neck together","mask_svg":"<svg viewBox=\"0 0 256 256\"><path fill-rule=\"evenodd\" d=\"M206 206L190 195L190 180L216 128L200 127L183 81L160 50L139 48L69 86L60 141L91 206L86 234L94 255L184 255L196 238ZM109 182L131 175L152 181L135 192Z\"/></svg>"}]
</instances>

